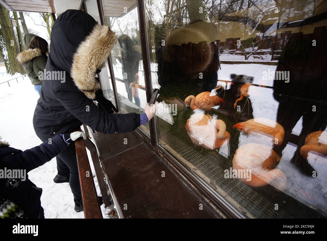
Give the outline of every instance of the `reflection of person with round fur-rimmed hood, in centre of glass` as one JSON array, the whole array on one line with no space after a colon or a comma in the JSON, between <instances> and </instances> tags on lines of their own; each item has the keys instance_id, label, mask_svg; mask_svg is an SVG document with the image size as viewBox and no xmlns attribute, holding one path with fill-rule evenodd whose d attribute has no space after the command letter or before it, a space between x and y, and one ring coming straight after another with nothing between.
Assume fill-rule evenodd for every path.
<instances>
[{"instance_id":1,"label":"reflection of person with round fur-rimmed hood, in centre of glass","mask_svg":"<svg viewBox=\"0 0 327 241\"><path fill-rule=\"evenodd\" d=\"M217 86L219 57L216 39L214 23L196 20L185 28L172 31L164 44L159 42L159 98L179 105L187 96L210 92Z\"/></svg>"}]
</instances>

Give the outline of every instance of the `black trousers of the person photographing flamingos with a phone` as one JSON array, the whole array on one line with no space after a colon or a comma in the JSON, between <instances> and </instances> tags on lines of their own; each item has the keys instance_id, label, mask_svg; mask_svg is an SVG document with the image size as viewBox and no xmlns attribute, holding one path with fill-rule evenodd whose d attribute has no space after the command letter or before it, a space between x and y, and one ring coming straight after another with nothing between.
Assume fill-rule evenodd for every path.
<instances>
[{"instance_id":1,"label":"black trousers of the person photographing flamingos with a phone","mask_svg":"<svg viewBox=\"0 0 327 241\"><path fill-rule=\"evenodd\" d=\"M37 136L44 142L48 141L49 136L44 136L35 130ZM69 176L69 186L73 193L75 200L82 200L81 188L79 184L78 167L77 167L77 157L75 150L75 143L71 143L67 149L62 151L57 159L57 170L58 174L62 176Z\"/></svg>"}]
</instances>

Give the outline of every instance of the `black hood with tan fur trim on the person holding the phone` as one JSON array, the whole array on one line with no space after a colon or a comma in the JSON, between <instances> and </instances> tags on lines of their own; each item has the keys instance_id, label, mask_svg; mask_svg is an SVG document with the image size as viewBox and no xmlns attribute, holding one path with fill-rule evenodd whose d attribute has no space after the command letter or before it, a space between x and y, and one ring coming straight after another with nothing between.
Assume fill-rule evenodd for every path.
<instances>
[{"instance_id":1,"label":"black hood with tan fur trim on the person holding the phone","mask_svg":"<svg viewBox=\"0 0 327 241\"><path fill-rule=\"evenodd\" d=\"M116 41L109 26L102 26L81 10L66 10L52 27L48 64L65 71L78 90L95 99L99 88L95 75L105 66ZM47 70L52 69L50 65Z\"/></svg>"}]
</instances>

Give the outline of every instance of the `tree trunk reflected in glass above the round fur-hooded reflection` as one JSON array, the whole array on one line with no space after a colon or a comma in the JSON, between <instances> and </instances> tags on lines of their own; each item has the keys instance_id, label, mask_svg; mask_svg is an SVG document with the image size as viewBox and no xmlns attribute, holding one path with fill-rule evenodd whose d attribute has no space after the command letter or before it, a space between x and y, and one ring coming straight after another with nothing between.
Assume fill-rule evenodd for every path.
<instances>
[{"instance_id":1,"label":"tree trunk reflected in glass above the round fur-hooded reflection","mask_svg":"<svg viewBox=\"0 0 327 241\"><path fill-rule=\"evenodd\" d=\"M195 20L210 22L207 8L203 0L186 0L186 9L190 22Z\"/></svg>"}]
</instances>

